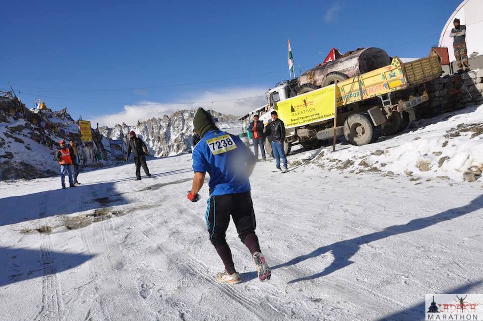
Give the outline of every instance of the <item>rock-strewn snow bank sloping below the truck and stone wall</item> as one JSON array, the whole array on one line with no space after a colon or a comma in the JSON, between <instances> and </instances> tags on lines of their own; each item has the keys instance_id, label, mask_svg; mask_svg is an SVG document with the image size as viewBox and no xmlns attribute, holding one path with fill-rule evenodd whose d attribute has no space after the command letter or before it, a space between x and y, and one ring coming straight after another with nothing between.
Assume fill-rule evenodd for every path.
<instances>
[{"instance_id":1,"label":"rock-strewn snow bank sloping below the truck and stone wall","mask_svg":"<svg viewBox=\"0 0 483 321\"><path fill-rule=\"evenodd\" d=\"M335 153L327 148L315 163L349 173L381 171L462 181L470 171L478 178L483 170L483 105L417 121L403 134L375 144L338 145Z\"/></svg>"}]
</instances>

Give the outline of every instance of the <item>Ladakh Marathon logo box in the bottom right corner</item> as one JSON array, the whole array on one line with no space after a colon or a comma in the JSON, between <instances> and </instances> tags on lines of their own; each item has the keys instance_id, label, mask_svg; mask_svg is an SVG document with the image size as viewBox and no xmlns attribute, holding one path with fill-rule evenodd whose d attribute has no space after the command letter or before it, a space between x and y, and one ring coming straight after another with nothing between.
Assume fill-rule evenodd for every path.
<instances>
[{"instance_id":1,"label":"Ladakh Marathon logo box in the bottom right corner","mask_svg":"<svg viewBox=\"0 0 483 321\"><path fill-rule=\"evenodd\" d=\"M483 294L426 294L425 320L483 321Z\"/></svg>"}]
</instances>

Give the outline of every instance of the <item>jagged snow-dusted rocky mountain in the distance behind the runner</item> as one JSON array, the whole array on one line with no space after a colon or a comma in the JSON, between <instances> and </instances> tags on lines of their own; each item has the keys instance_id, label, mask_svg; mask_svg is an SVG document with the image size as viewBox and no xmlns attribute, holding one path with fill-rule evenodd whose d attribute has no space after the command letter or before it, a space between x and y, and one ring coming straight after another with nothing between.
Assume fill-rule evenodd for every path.
<instances>
[{"instance_id":1,"label":"jagged snow-dusted rocky mountain in the distance behind the runner","mask_svg":"<svg viewBox=\"0 0 483 321\"><path fill-rule=\"evenodd\" d=\"M233 122L237 116L225 115L209 110L216 122ZM191 137L193 134L193 118L195 110L180 110L171 116L151 118L138 121L134 126L125 123L117 124L112 128L99 127L101 135L117 140L127 138L130 131L134 131L146 143L150 154L156 157L174 156L191 152ZM233 125L233 124L232 124ZM229 128L224 124L223 127ZM233 127L233 126L232 126Z\"/></svg>"}]
</instances>

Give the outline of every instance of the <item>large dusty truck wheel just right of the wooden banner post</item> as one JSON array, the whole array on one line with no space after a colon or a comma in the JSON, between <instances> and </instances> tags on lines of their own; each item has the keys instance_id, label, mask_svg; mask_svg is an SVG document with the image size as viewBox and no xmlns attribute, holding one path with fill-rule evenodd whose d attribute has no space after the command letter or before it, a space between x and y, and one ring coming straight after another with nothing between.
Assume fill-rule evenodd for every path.
<instances>
[{"instance_id":1,"label":"large dusty truck wheel just right of the wooden banner post","mask_svg":"<svg viewBox=\"0 0 483 321\"><path fill-rule=\"evenodd\" d=\"M355 113L344 122L344 137L352 145L370 144L381 136L381 126L378 127L374 126L368 114Z\"/></svg>"}]
</instances>

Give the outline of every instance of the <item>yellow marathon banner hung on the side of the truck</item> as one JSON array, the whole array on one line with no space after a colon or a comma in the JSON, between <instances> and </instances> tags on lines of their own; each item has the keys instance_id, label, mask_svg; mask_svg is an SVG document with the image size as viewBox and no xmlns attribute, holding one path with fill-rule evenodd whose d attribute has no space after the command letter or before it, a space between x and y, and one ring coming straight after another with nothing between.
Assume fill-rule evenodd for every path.
<instances>
[{"instance_id":1,"label":"yellow marathon banner hung on the side of the truck","mask_svg":"<svg viewBox=\"0 0 483 321\"><path fill-rule=\"evenodd\" d=\"M340 99L340 94L339 97ZM303 126L334 117L334 86L330 85L275 103L285 128Z\"/></svg>"}]
</instances>

